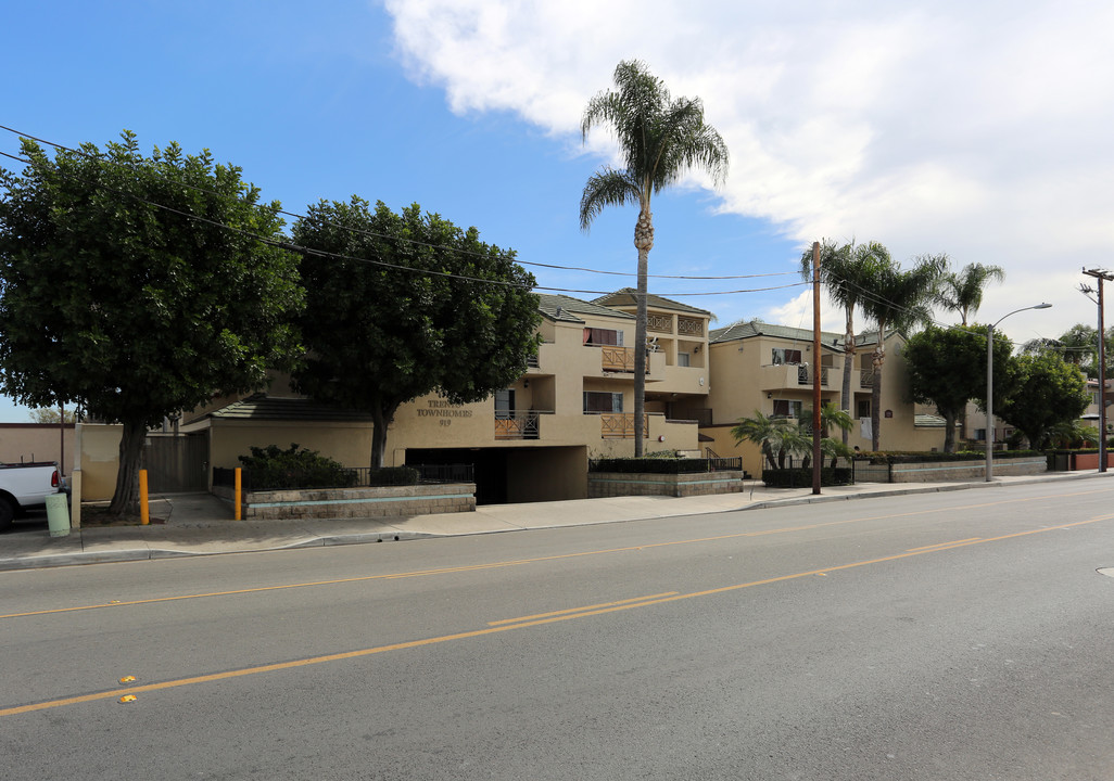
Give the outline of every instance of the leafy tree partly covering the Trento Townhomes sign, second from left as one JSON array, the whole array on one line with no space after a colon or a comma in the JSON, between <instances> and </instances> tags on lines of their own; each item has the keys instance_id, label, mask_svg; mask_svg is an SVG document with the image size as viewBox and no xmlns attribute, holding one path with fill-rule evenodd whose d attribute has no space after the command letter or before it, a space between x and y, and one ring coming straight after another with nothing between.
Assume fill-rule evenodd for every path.
<instances>
[{"instance_id":1,"label":"leafy tree partly covering the Trento Townhomes sign, second from left","mask_svg":"<svg viewBox=\"0 0 1114 781\"><path fill-rule=\"evenodd\" d=\"M476 228L417 204L397 215L353 197L311 206L293 236L309 248L309 356L294 385L371 414L373 468L383 465L400 405L434 392L452 404L479 402L520 377L537 353L534 277Z\"/></svg>"}]
</instances>

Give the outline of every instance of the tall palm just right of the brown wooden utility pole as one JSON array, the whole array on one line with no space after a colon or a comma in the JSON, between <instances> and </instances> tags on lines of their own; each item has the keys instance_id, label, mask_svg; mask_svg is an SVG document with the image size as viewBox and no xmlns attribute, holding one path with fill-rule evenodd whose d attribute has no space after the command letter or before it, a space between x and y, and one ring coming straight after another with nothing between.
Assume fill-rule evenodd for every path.
<instances>
[{"instance_id":1,"label":"tall palm just right of the brown wooden utility pole","mask_svg":"<svg viewBox=\"0 0 1114 781\"><path fill-rule=\"evenodd\" d=\"M843 332L843 386L840 389L840 408L851 411L851 373L854 369L854 309L866 294L872 274L880 265L890 263L890 253L878 241L856 244L851 240L837 247L829 239L820 245L820 281L828 289L832 303L843 307L847 316ZM812 279L812 250L801 256L801 278ZM847 444L848 429L842 431Z\"/></svg>"}]
</instances>

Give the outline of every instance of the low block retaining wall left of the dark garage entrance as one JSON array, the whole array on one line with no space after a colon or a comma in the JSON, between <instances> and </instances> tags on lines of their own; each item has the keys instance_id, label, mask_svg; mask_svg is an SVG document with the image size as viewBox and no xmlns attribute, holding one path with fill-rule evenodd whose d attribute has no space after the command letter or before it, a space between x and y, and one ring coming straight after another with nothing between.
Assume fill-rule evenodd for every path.
<instances>
[{"instance_id":1,"label":"low block retaining wall left of the dark garage entrance","mask_svg":"<svg viewBox=\"0 0 1114 781\"><path fill-rule=\"evenodd\" d=\"M213 493L233 502L233 490L214 486ZM375 488L304 488L245 492L242 517L266 518L380 518L476 510L475 483L422 483Z\"/></svg>"}]
</instances>

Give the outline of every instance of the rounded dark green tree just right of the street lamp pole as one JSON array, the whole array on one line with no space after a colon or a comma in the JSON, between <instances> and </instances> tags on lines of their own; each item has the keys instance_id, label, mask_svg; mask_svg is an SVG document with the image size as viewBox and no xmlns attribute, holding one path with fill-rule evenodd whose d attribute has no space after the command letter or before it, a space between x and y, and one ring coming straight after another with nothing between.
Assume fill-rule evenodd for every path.
<instances>
[{"instance_id":1,"label":"rounded dark green tree just right of the street lamp pole","mask_svg":"<svg viewBox=\"0 0 1114 781\"><path fill-rule=\"evenodd\" d=\"M1091 402L1079 369L1049 353L1015 358L1007 387L1000 406L995 398L994 411L1038 451L1049 445L1058 426L1077 419Z\"/></svg>"}]
</instances>

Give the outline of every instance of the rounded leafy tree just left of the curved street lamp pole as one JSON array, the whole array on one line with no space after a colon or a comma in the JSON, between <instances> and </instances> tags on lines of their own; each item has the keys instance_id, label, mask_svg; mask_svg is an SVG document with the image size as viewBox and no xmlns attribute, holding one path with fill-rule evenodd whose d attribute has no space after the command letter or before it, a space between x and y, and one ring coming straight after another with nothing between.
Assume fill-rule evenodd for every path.
<instances>
[{"instance_id":1,"label":"rounded leafy tree just left of the curved street lamp pole","mask_svg":"<svg viewBox=\"0 0 1114 781\"><path fill-rule=\"evenodd\" d=\"M995 339L996 373L1006 372L1010 352L1008 339ZM967 402L986 398L986 328L928 326L909 337L902 355L909 374L908 401L936 406L945 421L944 452L955 453L956 423Z\"/></svg>"}]
</instances>

